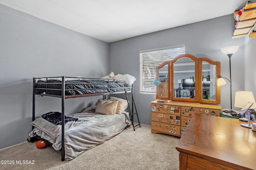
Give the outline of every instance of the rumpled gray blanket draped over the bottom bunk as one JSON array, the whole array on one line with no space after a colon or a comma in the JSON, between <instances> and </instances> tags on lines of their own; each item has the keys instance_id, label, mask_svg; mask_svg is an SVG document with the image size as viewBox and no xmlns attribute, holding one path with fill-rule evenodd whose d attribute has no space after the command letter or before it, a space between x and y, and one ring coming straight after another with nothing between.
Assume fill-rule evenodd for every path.
<instances>
[{"instance_id":1,"label":"rumpled gray blanket draped over the bottom bunk","mask_svg":"<svg viewBox=\"0 0 256 170\"><path fill-rule=\"evenodd\" d=\"M75 113L70 117L78 118L78 121L65 124L65 160L72 160L85 150L104 143L130 125L129 113L126 111L115 115ZM35 127L30 137L38 135L52 143L55 150L61 149L61 125L54 125L42 117L30 124Z\"/></svg>"}]
</instances>

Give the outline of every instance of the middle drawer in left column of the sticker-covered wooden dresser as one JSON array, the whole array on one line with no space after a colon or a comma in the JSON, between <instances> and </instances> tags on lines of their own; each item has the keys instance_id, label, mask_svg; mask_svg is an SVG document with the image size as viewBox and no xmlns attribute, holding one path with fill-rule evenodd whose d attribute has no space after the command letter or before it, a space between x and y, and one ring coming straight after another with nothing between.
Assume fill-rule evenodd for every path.
<instances>
[{"instance_id":1,"label":"middle drawer in left column of the sticker-covered wooden dresser","mask_svg":"<svg viewBox=\"0 0 256 170\"><path fill-rule=\"evenodd\" d=\"M172 125L180 125L180 116L177 115L151 112L151 120L162 123L169 123Z\"/></svg>"}]
</instances>

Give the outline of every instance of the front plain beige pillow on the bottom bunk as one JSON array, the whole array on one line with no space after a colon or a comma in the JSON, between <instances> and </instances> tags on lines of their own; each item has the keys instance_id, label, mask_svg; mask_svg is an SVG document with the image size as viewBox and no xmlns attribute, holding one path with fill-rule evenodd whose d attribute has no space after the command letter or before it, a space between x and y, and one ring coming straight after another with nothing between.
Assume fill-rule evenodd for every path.
<instances>
[{"instance_id":1,"label":"front plain beige pillow on the bottom bunk","mask_svg":"<svg viewBox=\"0 0 256 170\"><path fill-rule=\"evenodd\" d=\"M118 101L108 101L99 99L96 105L95 113L101 113L104 115L114 115L116 114L116 107Z\"/></svg>"}]
</instances>

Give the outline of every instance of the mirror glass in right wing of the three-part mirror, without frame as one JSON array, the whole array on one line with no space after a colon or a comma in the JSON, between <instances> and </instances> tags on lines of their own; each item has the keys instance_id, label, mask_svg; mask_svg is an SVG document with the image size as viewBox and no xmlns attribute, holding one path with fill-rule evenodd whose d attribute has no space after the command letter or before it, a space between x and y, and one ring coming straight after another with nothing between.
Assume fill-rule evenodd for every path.
<instances>
[{"instance_id":1,"label":"mirror glass in right wing of the three-part mirror, without frame","mask_svg":"<svg viewBox=\"0 0 256 170\"><path fill-rule=\"evenodd\" d=\"M202 99L216 100L216 65L202 61Z\"/></svg>"}]
</instances>

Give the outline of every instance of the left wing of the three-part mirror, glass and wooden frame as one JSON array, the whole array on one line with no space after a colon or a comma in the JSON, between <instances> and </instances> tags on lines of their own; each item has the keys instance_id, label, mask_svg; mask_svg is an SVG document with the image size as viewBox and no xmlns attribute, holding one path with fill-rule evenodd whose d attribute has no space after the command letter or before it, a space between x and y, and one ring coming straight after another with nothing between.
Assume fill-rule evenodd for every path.
<instances>
[{"instance_id":1,"label":"left wing of the three-part mirror, glass and wooden frame","mask_svg":"<svg viewBox=\"0 0 256 170\"><path fill-rule=\"evenodd\" d=\"M170 61L165 61L157 67L156 73L158 74L158 80L160 85L156 86L156 99L170 100Z\"/></svg>"}]
</instances>

